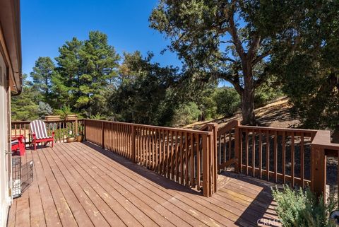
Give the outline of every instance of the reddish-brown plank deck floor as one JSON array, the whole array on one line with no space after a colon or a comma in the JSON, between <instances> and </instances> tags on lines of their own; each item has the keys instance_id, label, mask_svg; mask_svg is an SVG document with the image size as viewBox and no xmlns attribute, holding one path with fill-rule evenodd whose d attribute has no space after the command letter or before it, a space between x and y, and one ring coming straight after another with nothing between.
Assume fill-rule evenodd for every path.
<instances>
[{"instance_id":1,"label":"reddish-brown plank deck floor","mask_svg":"<svg viewBox=\"0 0 339 227\"><path fill-rule=\"evenodd\" d=\"M266 182L227 174L213 197L90 143L26 151L35 175L8 226L274 226Z\"/></svg>"}]
</instances>

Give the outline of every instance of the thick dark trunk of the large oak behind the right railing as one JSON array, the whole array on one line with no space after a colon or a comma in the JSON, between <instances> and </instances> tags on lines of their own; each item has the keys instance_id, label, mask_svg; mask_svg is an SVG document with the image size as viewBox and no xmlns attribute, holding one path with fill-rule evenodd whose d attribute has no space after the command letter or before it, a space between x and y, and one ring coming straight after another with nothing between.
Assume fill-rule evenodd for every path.
<instances>
[{"instance_id":1,"label":"thick dark trunk of the large oak behind the right railing","mask_svg":"<svg viewBox=\"0 0 339 227\"><path fill-rule=\"evenodd\" d=\"M244 90L242 91L242 124L256 125L256 115L254 114L254 80L252 77L252 67L249 62L243 64Z\"/></svg>"}]
</instances>

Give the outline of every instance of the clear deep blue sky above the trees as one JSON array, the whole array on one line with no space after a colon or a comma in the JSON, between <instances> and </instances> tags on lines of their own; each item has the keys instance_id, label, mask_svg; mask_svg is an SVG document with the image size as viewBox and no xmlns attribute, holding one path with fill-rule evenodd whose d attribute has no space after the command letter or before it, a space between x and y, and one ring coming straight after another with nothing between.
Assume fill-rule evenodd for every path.
<instances>
[{"instance_id":1,"label":"clear deep blue sky above the trees","mask_svg":"<svg viewBox=\"0 0 339 227\"><path fill-rule=\"evenodd\" d=\"M160 54L169 41L148 27L155 6L157 0L21 0L23 73L38 57L57 57L66 40L85 40L90 30L106 33L119 54L152 51L155 62L180 66L177 54Z\"/></svg>"}]
</instances>

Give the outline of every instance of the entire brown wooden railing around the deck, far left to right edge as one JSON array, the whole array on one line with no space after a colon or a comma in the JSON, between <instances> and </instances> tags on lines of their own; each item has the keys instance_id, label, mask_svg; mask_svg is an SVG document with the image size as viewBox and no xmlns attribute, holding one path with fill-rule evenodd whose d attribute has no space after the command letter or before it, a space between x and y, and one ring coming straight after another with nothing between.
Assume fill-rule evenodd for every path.
<instances>
[{"instance_id":1,"label":"entire brown wooden railing around the deck, far left to right edge","mask_svg":"<svg viewBox=\"0 0 339 227\"><path fill-rule=\"evenodd\" d=\"M30 144L29 124L12 122L12 135L23 134ZM328 131L251 127L239 121L199 130L88 119L46 124L57 142L65 141L69 131L83 132L93 144L206 197L217 191L217 171L227 168L292 187L309 185L326 196L326 158L339 156L339 144L331 143Z\"/></svg>"}]
</instances>

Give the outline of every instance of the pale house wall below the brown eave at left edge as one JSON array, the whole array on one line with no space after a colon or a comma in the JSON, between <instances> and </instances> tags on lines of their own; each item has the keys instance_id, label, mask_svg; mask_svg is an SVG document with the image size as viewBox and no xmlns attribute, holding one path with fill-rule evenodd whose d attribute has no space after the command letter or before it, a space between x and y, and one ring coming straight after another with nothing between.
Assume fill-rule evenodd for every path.
<instances>
[{"instance_id":1,"label":"pale house wall below the brown eave at left edge","mask_svg":"<svg viewBox=\"0 0 339 227\"><path fill-rule=\"evenodd\" d=\"M4 56L0 54L0 226L6 226L8 208L11 205L9 189L11 187L11 155L8 154L10 122L8 89L8 69Z\"/></svg>"}]
</instances>

